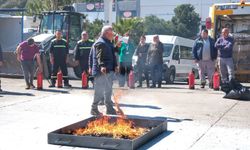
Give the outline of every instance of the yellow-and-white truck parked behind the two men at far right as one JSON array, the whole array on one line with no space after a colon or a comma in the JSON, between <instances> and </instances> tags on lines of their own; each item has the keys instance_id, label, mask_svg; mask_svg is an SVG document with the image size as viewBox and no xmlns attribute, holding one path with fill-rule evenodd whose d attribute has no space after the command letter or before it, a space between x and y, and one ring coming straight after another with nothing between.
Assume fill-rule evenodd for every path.
<instances>
[{"instance_id":1,"label":"yellow-and-white truck parked behind the two men at far right","mask_svg":"<svg viewBox=\"0 0 250 150\"><path fill-rule=\"evenodd\" d=\"M206 28L215 40L223 28L229 28L235 40L233 60L236 79L250 82L250 3L219 3L210 7Z\"/></svg>"}]
</instances>

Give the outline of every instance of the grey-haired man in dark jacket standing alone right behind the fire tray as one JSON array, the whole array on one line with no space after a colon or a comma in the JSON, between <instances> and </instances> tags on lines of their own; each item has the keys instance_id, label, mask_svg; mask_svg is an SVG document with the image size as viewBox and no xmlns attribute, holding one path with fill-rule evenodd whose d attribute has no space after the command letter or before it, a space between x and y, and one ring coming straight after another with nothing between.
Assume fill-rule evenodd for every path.
<instances>
[{"instance_id":1,"label":"grey-haired man in dark jacket standing alone right behind the fire tray","mask_svg":"<svg viewBox=\"0 0 250 150\"><path fill-rule=\"evenodd\" d=\"M113 86L113 74L117 71L115 48L111 42L113 39L112 26L102 28L100 38L95 42L92 50L92 75L94 75L94 101L91 114L100 115L98 103L104 99L107 114L116 114L112 106L111 95ZM91 59L91 58L90 58ZM91 63L91 62L90 62Z\"/></svg>"}]
</instances>

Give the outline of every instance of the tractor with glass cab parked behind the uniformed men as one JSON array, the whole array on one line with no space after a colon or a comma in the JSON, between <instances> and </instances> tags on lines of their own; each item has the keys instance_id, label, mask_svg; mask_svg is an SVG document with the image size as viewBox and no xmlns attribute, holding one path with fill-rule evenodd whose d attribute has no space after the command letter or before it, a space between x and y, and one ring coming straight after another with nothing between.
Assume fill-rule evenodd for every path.
<instances>
[{"instance_id":1,"label":"tractor with glass cab parked behind the uniformed men","mask_svg":"<svg viewBox=\"0 0 250 150\"><path fill-rule=\"evenodd\" d=\"M51 66L49 63L50 42L55 38L56 30L61 30L63 38L67 40L70 52L70 63L68 64L69 76L75 77L77 68L73 63L73 50L81 37L83 19L85 15L73 11L46 11L39 15L41 20L38 33L33 37L40 45L40 52L44 64L44 75L50 76ZM34 21L36 19L34 18Z\"/></svg>"}]
</instances>

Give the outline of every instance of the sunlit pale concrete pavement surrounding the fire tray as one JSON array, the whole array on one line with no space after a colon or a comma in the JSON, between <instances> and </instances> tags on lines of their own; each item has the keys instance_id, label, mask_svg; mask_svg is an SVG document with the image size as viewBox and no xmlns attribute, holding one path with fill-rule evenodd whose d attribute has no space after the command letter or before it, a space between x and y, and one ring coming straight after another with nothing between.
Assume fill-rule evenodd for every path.
<instances>
[{"instance_id":1,"label":"sunlit pale concrete pavement surrounding the fire tray","mask_svg":"<svg viewBox=\"0 0 250 150\"><path fill-rule=\"evenodd\" d=\"M1 80L0 150L86 149L49 145L47 134L90 117L93 90L82 90L76 80L72 89L48 89L44 81L44 91L25 90L23 79ZM250 150L250 102L223 99L223 92L207 88L187 88L122 89L126 115L168 119L168 131L141 150Z\"/></svg>"}]
</instances>

